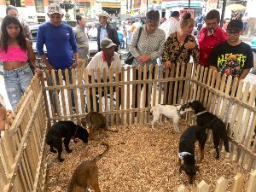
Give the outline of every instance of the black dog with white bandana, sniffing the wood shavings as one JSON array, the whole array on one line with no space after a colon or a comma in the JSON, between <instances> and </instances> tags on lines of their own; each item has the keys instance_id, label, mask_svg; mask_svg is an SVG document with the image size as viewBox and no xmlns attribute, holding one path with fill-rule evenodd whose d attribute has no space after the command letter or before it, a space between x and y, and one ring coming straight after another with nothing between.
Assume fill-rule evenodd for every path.
<instances>
[{"instance_id":1,"label":"black dog with white bandana, sniffing the wood shavings","mask_svg":"<svg viewBox=\"0 0 256 192\"><path fill-rule=\"evenodd\" d=\"M213 122L214 120L212 120ZM180 137L179 148L178 148L178 165L179 172L186 172L189 177L189 183L192 184L195 181L196 172L199 172L199 167L195 165L195 141L197 140L200 148L200 162L204 159L204 148L207 142L207 127L212 124L205 126L192 125L185 131ZM183 160L183 165L181 165Z\"/></svg>"}]
</instances>

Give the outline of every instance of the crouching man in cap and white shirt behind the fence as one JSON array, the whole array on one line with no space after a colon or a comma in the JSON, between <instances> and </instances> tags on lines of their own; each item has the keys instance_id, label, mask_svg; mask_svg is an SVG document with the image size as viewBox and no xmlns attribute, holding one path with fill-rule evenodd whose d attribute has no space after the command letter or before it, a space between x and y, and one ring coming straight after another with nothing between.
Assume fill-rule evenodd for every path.
<instances>
[{"instance_id":1,"label":"crouching man in cap and white shirt behind the fence","mask_svg":"<svg viewBox=\"0 0 256 192\"><path fill-rule=\"evenodd\" d=\"M97 69L99 68L101 71L101 82L103 82L103 71L106 69L107 81L109 81L109 68L113 68L113 72L115 68L119 68L119 81L121 80L121 61L119 59L119 55L114 52L114 48L116 44L113 44L113 41L109 38L103 38L100 43L102 51L98 52L91 59L90 63L86 67L89 73L89 83L91 83L91 69L93 69L95 73L95 79L97 79ZM97 80L95 80L97 82ZM110 87L108 87L108 93L110 93ZM113 87L113 91L115 91L115 87ZM96 88L96 95L98 96L98 88ZM102 96L104 96L104 90L102 89ZM99 111L98 98L96 97L96 111ZM117 105L120 107L121 104L121 89L119 87L119 103ZM92 97L92 89L90 89L90 108L93 108L93 97Z\"/></svg>"}]
</instances>

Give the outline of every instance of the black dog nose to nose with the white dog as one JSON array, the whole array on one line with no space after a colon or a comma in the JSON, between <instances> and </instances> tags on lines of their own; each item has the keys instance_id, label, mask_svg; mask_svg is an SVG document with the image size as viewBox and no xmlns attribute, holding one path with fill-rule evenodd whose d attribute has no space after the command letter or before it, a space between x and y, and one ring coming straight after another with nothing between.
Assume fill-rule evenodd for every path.
<instances>
[{"instance_id":1,"label":"black dog nose to nose with the white dog","mask_svg":"<svg viewBox=\"0 0 256 192\"><path fill-rule=\"evenodd\" d=\"M216 119L214 123L212 123L212 125L208 127L208 129L212 130L213 144L216 150L216 159L219 159L218 146L220 143L220 139L223 139L224 141L225 151L230 152L228 134L224 122L214 114L207 112L206 108L204 108L199 101L189 102L188 105L195 111L197 125L207 125L209 121L211 121L212 119Z\"/></svg>"}]
</instances>

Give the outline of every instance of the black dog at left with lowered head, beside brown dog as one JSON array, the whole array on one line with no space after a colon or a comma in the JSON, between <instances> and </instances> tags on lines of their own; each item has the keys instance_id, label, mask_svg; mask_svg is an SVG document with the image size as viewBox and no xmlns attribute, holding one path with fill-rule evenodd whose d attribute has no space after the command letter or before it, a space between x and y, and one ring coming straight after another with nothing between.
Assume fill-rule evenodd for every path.
<instances>
[{"instance_id":1,"label":"black dog at left with lowered head, beside brown dog","mask_svg":"<svg viewBox=\"0 0 256 192\"><path fill-rule=\"evenodd\" d=\"M69 148L69 142L72 137L78 137L84 143L88 143L88 131L86 131L82 126L75 125L72 121L59 121L51 126L49 132L46 135L46 143L49 144L50 152L57 153L58 160L62 162L64 159L61 158L62 152L62 139L64 137L63 143L65 145L67 153L71 153L72 150ZM54 149L55 148L55 149Z\"/></svg>"}]
</instances>

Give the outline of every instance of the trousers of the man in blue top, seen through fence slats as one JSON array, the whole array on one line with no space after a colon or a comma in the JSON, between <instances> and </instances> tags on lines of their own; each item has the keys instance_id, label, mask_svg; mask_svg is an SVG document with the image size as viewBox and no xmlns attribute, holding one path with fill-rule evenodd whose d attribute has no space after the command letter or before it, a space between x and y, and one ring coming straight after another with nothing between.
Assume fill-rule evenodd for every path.
<instances>
[{"instance_id":1,"label":"trousers of the man in blue top, seen through fence slats","mask_svg":"<svg viewBox=\"0 0 256 192\"><path fill-rule=\"evenodd\" d=\"M69 84L73 84L73 81L72 81L72 69L68 68L67 70L68 70ZM62 77L63 77L64 81L66 82L65 69L61 70L61 73L62 73ZM58 76L58 71L55 71L55 78L56 78L56 85L60 85L60 79L59 79L59 76ZM51 86L54 85L53 81L52 81L52 78L51 78L51 75L49 76L49 82L50 82ZM58 90L58 94L59 94L59 92L60 92L60 90ZM51 93L52 104L54 106L55 113L57 113L56 102L55 102L55 91L50 91L49 93ZM71 93L72 107L74 109L75 108L75 101L74 101L73 90L70 90L70 93Z\"/></svg>"}]
</instances>

